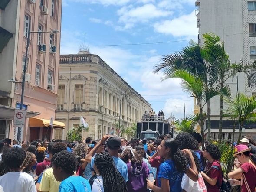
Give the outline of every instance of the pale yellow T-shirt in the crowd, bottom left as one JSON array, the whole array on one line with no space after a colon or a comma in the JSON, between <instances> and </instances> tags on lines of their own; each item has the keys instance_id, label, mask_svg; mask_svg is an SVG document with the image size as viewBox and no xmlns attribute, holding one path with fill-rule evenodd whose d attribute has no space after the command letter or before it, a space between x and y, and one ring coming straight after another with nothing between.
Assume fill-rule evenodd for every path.
<instances>
[{"instance_id":1,"label":"pale yellow T-shirt in the crowd, bottom left","mask_svg":"<svg viewBox=\"0 0 256 192\"><path fill-rule=\"evenodd\" d=\"M53 168L51 167L43 172L38 190L41 192L58 192L60 183L61 182L56 181L53 175Z\"/></svg>"}]
</instances>

